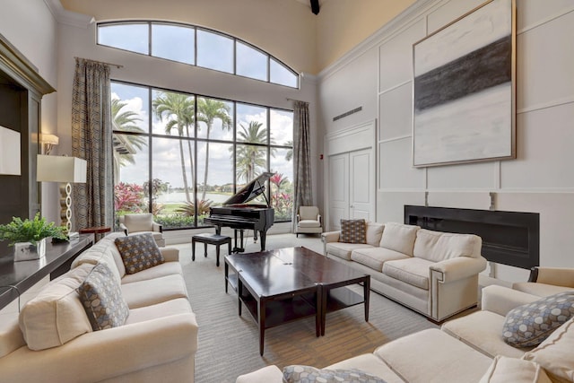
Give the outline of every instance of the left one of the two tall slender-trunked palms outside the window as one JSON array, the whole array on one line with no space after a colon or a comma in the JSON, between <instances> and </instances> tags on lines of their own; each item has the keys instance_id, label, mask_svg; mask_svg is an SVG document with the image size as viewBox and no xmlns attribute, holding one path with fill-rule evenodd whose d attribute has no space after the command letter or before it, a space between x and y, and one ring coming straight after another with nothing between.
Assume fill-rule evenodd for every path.
<instances>
[{"instance_id":1,"label":"left one of the two tall slender-trunked palms outside the window","mask_svg":"<svg viewBox=\"0 0 574 383\"><path fill-rule=\"evenodd\" d=\"M171 129L176 129L180 137L184 136L184 129L186 129L187 136L189 136L189 126L193 126L194 123L194 100L185 94L173 93L173 92L161 92L152 101L153 113L160 118L167 119L165 125L165 132L170 135ZM191 196L189 196L189 187L187 183L187 171L186 171L186 161L183 153L183 140L178 140L179 142L179 159L181 160L181 174L183 177L183 186L186 192L187 202L191 202ZM189 158L191 161L191 177L192 185L194 179L194 166L193 166L193 156L191 155L191 144L187 142L189 150Z\"/></svg>"}]
</instances>

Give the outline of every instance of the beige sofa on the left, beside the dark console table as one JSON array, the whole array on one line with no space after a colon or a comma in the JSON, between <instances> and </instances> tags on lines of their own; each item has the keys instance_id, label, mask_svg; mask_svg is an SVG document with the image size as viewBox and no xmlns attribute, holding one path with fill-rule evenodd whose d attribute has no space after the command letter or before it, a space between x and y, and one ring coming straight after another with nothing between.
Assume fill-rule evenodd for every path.
<instances>
[{"instance_id":1,"label":"beige sofa on the left, beside the dark console table","mask_svg":"<svg viewBox=\"0 0 574 383\"><path fill-rule=\"evenodd\" d=\"M178 249L161 248L165 262L126 274L112 233L44 286L0 334L2 382L193 382L197 323L178 262ZM76 291L98 263L120 281L129 308L123 326L92 331ZM7 326L6 326L7 325Z\"/></svg>"}]
</instances>

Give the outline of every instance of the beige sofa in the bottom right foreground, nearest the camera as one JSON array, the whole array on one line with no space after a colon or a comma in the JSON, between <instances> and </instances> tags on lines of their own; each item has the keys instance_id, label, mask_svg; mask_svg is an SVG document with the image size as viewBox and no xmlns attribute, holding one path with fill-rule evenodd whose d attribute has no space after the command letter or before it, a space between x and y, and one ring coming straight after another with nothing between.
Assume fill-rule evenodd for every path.
<instances>
[{"instance_id":1,"label":"beige sofa in the bottom right foreground, nearest the camera","mask_svg":"<svg viewBox=\"0 0 574 383\"><path fill-rule=\"evenodd\" d=\"M358 369L387 383L572 382L574 318L535 348L515 349L502 339L510 309L540 297L491 285L483 289L482 309L446 322L441 329L406 335L326 367ZM236 383L280 383L283 372L271 365L241 375Z\"/></svg>"}]
</instances>

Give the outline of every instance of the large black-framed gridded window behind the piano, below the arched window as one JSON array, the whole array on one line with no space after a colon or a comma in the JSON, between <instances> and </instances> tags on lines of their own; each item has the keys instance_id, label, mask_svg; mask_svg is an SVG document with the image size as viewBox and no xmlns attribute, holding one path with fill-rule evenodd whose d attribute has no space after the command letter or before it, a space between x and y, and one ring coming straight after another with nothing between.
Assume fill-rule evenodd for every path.
<instances>
[{"instance_id":1,"label":"large black-framed gridded window behind the piano, below the arched window","mask_svg":"<svg viewBox=\"0 0 574 383\"><path fill-rule=\"evenodd\" d=\"M291 110L132 83L112 82L111 93L117 215L201 226L209 207L271 171L275 222L291 221Z\"/></svg>"}]
</instances>

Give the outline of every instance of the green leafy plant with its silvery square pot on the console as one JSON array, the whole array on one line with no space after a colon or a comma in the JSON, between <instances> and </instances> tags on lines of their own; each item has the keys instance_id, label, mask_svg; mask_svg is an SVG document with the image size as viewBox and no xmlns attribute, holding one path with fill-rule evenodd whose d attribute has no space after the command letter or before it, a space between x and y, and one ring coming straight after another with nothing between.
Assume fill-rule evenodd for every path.
<instances>
[{"instance_id":1,"label":"green leafy plant with its silvery square pot on the console","mask_svg":"<svg viewBox=\"0 0 574 383\"><path fill-rule=\"evenodd\" d=\"M14 247L14 261L44 257L48 237L66 239L65 228L46 222L39 213L33 220L13 217L12 222L0 225L0 240L8 240L8 246Z\"/></svg>"}]
</instances>

